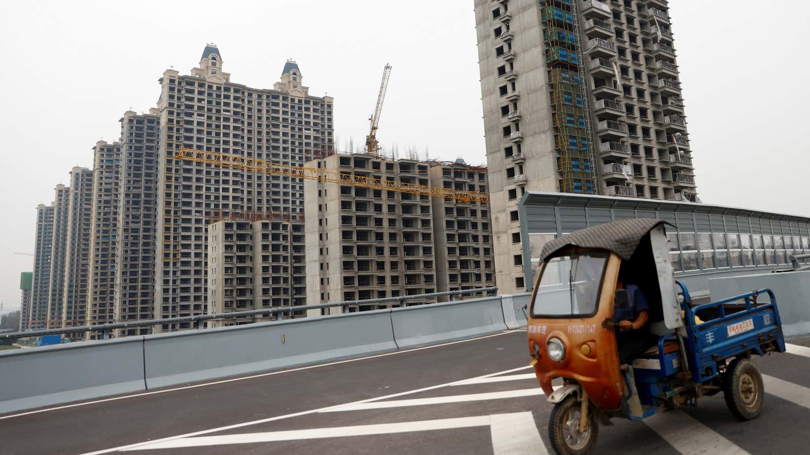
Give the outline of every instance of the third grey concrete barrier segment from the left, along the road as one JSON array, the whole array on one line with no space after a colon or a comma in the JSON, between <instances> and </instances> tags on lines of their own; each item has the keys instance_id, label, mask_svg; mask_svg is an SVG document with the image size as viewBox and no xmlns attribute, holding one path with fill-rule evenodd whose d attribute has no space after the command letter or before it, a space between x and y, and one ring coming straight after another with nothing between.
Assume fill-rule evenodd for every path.
<instances>
[{"instance_id":1,"label":"third grey concrete barrier segment from the left, along the road","mask_svg":"<svg viewBox=\"0 0 810 455\"><path fill-rule=\"evenodd\" d=\"M400 349L508 330L501 296L393 308L390 316Z\"/></svg>"}]
</instances>

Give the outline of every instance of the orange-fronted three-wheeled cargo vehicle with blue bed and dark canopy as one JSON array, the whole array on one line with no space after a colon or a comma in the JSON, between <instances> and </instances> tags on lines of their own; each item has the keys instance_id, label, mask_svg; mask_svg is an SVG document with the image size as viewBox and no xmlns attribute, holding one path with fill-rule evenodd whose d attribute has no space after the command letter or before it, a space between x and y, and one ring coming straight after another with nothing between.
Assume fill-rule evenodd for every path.
<instances>
[{"instance_id":1,"label":"orange-fronted three-wheeled cargo vehicle with blue bed and dark canopy","mask_svg":"<svg viewBox=\"0 0 810 455\"><path fill-rule=\"evenodd\" d=\"M540 253L528 347L554 403L548 432L556 453L591 453L599 423L612 417L640 420L721 390L738 418L760 413L763 382L750 357L785 351L774 293L693 305L673 279L666 224L606 223L552 240ZM649 332L635 338L648 344L627 364L620 364L616 334L639 324L615 321L615 312L629 308L620 279L646 296L648 308L640 325Z\"/></svg>"}]
</instances>

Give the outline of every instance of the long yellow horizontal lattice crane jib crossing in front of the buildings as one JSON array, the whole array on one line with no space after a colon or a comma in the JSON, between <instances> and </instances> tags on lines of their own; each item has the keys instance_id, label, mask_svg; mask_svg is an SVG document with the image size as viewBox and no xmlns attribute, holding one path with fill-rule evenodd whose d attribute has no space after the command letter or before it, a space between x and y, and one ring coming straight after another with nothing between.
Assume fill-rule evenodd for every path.
<instances>
[{"instance_id":1,"label":"long yellow horizontal lattice crane jib crossing in front of the buildings","mask_svg":"<svg viewBox=\"0 0 810 455\"><path fill-rule=\"evenodd\" d=\"M240 169L242 171L265 172L277 176L289 176L314 181L328 181L340 185L360 186L369 189L386 189L399 193L425 194L435 198L452 198L458 202L489 203L489 195L475 191L461 191L451 188L437 188L428 185L416 185L401 181L383 180L373 176L359 176L344 174L328 169L305 168L290 164L279 164L262 159L245 158L244 156L223 155L213 151L200 151L181 147L174 155L175 159L194 161L195 163L211 164L223 168Z\"/></svg>"}]
</instances>

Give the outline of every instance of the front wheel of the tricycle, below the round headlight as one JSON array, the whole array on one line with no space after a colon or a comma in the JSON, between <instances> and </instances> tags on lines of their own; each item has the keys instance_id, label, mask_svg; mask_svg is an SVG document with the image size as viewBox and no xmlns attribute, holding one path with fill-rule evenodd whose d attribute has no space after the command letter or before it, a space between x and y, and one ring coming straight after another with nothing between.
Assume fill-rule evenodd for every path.
<instances>
[{"instance_id":1,"label":"front wheel of the tricycle, below the round headlight","mask_svg":"<svg viewBox=\"0 0 810 455\"><path fill-rule=\"evenodd\" d=\"M587 455L594 451L599 436L599 424L591 410L585 432L579 433L582 404L573 393L556 403L548 418L548 440L558 455Z\"/></svg>"}]
</instances>

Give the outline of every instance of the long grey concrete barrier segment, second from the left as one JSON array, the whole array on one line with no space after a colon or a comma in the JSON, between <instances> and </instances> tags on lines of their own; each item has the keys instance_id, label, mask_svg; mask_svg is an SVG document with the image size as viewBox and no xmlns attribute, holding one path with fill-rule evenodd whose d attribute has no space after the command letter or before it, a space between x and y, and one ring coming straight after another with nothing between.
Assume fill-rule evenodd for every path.
<instances>
[{"instance_id":1,"label":"long grey concrete barrier segment, second from the left","mask_svg":"<svg viewBox=\"0 0 810 455\"><path fill-rule=\"evenodd\" d=\"M149 389L395 351L390 310L144 337Z\"/></svg>"}]
</instances>

